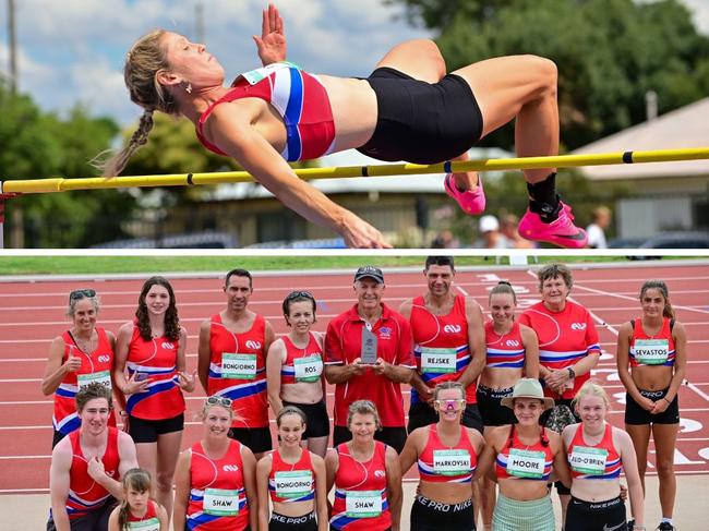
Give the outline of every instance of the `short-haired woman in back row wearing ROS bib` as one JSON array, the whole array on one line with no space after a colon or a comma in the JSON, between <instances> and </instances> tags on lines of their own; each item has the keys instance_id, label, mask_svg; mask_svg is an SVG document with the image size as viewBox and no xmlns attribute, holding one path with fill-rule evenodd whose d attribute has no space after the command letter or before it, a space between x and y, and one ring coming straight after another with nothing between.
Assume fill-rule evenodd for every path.
<instances>
[{"instance_id":1,"label":"short-haired woman in back row wearing ROS bib","mask_svg":"<svg viewBox=\"0 0 709 531\"><path fill-rule=\"evenodd\" d=\"M303 444L325 457L329 418L325 407L323 336L311 331L315 323L315 298L308 291L292 291L283 303L290 331L275 340L266 357L268 402L274 413L296 406L307 417Z\"/></svg>"}]
</instances>

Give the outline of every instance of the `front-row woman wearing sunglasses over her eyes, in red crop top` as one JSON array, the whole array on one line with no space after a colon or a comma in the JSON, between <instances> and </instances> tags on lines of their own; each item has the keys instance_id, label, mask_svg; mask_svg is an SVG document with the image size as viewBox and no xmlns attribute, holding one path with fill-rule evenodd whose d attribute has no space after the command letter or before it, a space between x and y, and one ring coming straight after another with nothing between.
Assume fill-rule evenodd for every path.
<instances>
[{"instance_id":1,"label":"front-row woman wearing sunglasses over her eyes, in red crop top","mask_svg":"<svg viewBox=\"0 0 709 531\"><path fill-rule=\"evenodd\" d=\"M436 385L433 408L438 422L418 427L399 456L401 474L419 463L421 481L411 508L411 531L476 529L472 480L484 446L480 432L460 424L466 407L458 382Z\"/></svg>"}]
</instances>

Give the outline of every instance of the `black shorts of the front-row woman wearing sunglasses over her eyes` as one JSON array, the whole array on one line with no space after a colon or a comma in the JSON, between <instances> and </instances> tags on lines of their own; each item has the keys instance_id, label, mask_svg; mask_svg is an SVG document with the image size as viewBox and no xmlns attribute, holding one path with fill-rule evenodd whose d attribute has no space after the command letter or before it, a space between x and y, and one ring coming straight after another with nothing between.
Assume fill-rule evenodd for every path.
<instances>
[{"instance_id":1,"label":"black shorts of the front-row woman wearing sunglasses over her eyes","mask_svg":"<svg viewBox=\"0 0 709 531\"><path fill-rule=\"evenodd\" d=\"M417 496L411 506L411 531L474 531L476 514L472 500L459 504L440 504Z\"/></svg>"}]
</instances>

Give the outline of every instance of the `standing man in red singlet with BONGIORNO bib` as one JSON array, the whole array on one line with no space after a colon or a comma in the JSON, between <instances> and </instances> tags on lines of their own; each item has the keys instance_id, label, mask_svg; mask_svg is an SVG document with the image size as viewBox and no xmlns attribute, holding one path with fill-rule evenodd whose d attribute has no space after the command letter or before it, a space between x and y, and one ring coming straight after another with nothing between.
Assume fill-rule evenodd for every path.
<instances>
[{"instance_id":1,"label":"standing man in red singlet with BONGIORNO bib","mask_svg":"<svg viewBox=\"0 0 709 531\"><path fill-rule=\"evenodd\" d=\"M248 309L253 293L245 269L227 273L227 307L200 326L197 373L208 396L230 398L235 417L229 436L256 459L273 448L268 429L266 353L274 341L271 324Z\"/></svg>"}]
</instances>

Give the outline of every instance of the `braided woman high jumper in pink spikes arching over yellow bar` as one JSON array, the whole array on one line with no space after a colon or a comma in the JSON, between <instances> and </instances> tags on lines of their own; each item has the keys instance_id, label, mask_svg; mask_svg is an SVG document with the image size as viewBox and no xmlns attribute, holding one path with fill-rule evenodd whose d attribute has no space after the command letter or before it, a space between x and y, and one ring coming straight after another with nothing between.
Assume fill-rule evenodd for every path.
<instances>
[{"instance_id":1,"label":"braided woman high jumper in pink spikes arching over yellow bar","mask_svg":"<svg viewBox=\"0 0 709 531\"><path fill-rule=\"evenodd\" d=\"M184 116L205 146L235 158L289 208L338 232L349 246L385 248L378 230L298 179L286 160L349 148L380 160L465 159L476 142L515 118L518 155L558 150L557 73L550 60L502 57L446 74L437 46L419 39L393 48L365 80L314 76L281 62L286 39L273 7L264 12L256 44L264 68L225 87L223 67L203 45L163 29L137 40L124 79L131 99L145 112L104 174L120 173L145 144L155 110ZM558 201L554 171L525 170L532 201L520 234L582 248L586 232ZM466 213L484 210L476 172L449 173L445 188Z\"/></svg>"}]
</instances>

